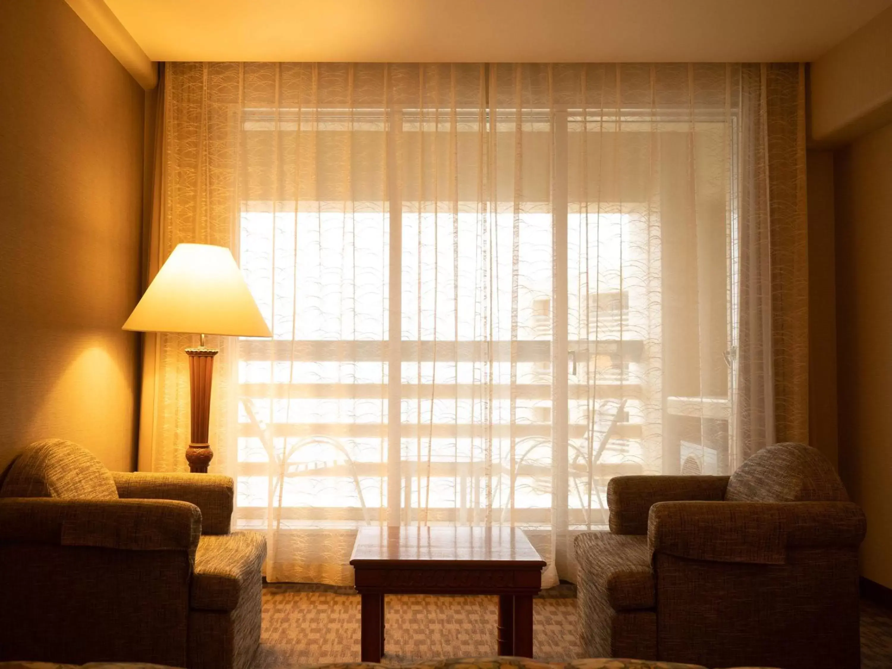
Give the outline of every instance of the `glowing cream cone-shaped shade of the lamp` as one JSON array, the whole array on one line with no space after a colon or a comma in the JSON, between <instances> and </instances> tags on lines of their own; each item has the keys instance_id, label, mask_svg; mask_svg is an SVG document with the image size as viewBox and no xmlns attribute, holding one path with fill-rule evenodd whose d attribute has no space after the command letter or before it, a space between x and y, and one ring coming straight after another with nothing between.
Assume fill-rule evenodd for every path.
<instances>
[{"instance_id":1,"label":"glowing cream cone-shaped shade of the lamp","mask_svg":"<svg viewBox=\"0 0 892 669\"><path fill-rule=\"evenodd\" d=\"M210 244L178 244L124 329L272 336L232 253Z\"/></svg>"}]
</instances>

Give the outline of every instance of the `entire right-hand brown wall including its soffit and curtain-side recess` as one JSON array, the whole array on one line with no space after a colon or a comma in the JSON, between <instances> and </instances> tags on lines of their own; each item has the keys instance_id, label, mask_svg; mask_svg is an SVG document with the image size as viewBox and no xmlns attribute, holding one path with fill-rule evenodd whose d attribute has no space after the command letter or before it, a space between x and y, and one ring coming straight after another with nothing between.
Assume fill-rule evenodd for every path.
<instances>
[{"instance_id":1,"label":"entire right-hand brown wall including its soffit and curtain-side recess","mask_svg":"<svg viewBox=\"0 0 892 669\"><path fill-rule=\"evenodd\" d=\"M892 7L811 64L811 434L830 454L835 271L839 474L867 514L862 574L892 588ZM814 150L821 147L823 151ZM832 155L832 158L830 156ZM832 175L829 166L832 165ZM825 213L832 207L833 215ZM832 220L830 220L832 219ZM827 222L835 235L825 235ZM815 237L817 235L817 237ZM832 246L835 244L835 249ZM824 263L830 251L832 262ZM826 267L826 271L825 271Z\"/></svg>"}]
</instances>

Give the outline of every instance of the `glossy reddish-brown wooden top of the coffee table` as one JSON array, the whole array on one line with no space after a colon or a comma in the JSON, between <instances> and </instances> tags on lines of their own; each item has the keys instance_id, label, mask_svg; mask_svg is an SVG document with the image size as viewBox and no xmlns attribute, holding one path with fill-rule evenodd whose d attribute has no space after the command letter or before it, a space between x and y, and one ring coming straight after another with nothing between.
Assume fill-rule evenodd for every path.
<instances>
[{"instance_id":1,"label":"glossy reddish-brown wooden top of the coffee table","mask_svg":"<svg viewBox=\"0 0 892 669\"><path fill-rule=\"evenodd\" d=\"M523 531L512 527L360 527L350 564L393 563L545 566Z\"/></svg>"}]
</instances>

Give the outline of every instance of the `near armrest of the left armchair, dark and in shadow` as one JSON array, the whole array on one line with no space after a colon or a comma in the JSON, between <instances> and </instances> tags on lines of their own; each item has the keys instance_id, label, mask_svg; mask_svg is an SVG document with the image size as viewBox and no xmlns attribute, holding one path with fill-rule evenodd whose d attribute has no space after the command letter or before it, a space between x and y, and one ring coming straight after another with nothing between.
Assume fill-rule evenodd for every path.
<instances>
[{"instance_id":1,"label":"near armrest of the left armchair, dark and in shadow","mask_svg":"<svg viewBox=\"0 0 892 669\"><path fill-rule=\"evenodd\" d=\"M121 550L184 550L202 532L194 504L171 500L0 500L0 541Z\"/></svg>"}]
</instances>

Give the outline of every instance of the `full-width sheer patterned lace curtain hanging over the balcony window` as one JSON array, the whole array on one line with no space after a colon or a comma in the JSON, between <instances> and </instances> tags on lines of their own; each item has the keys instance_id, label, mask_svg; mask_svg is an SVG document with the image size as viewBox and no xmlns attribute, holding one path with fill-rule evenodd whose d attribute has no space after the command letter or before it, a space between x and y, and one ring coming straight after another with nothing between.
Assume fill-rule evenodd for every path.
<instances>
[{"instance_id":1,"label":"full-width sheer patterned lace curtain hanging over the balcony window","mask_svg":"<svg viewBox=\"0 0 892 669\"><path fill-rule=\"evenodd\" d=\"M270 581L362 524L510 524L573 578L615 475L807 438L799 65L169 63L156 263L235 254L211 471ZM217 341L213 341L217 340ZM185 335L141 461L182 471ZM780 358L779 358L780 356Z\"/></svg>"}]
</instances>

